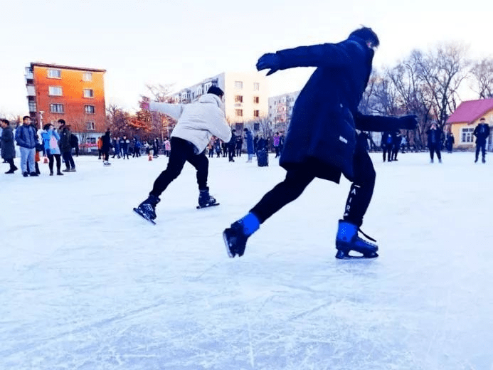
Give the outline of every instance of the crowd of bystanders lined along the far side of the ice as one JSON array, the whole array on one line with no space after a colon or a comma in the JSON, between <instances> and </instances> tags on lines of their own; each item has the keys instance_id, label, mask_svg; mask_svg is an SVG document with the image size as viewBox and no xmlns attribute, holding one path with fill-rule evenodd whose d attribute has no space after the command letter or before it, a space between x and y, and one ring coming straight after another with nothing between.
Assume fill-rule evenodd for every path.
<instances>
[{"instance_id":1,"label":"crowd of bystanders lined along the far side of the ice","mask_svg":"<svg viewBox=\"0 0 493 370\"><path fill-rule=\"evenodd\" d=\"M15 145L18 146L20 154L21 174L27 176L38 176L41 172L38 163L42 160L48 161L49 174L52 176L63 175L63 172L75 172L74 156L79 156L79 139L71 131L70 125L65 120L59 120L58 128L52 124L43 125L38 130L31 117L25 116L14 129L9 120L0 120L0 149L1 158L4 163L9 164L10 168L6 174L14 174L18 167L14 164L16 158ZM262 132L244 128L243 132L231 130L229 142L223 142L218 137L212 137L206 147L206 154L209 158L228 158L229 162L247 154L246 162L252 162L253 157L258 157L258 151L263 150L275 154L275 158L280 157L284 145L285 133L274 132L272 135L264 135ZM486 142L489 137L489 125L484 118L475 127L473 136L475 139L475 162L482 155L482 163L486 162ZM108 130L105 135L97 138L98 159L102 159L103 164L110 164L112 159L129 159L141 157L142 154L158 158L159 155L169 157L171 152L171 141L169 137L154 139L139 139L138 137L127 137L127 135L110 137ZM367 149L369 152L382 152L383 162L398 161L399 152L420 152L421 148L416 144L414 137L408 137L405 132L397 130L395 132L381 132L380 145L377 145L371 134L365 133L367 138ZM447 130L442 132L437 122L430 122L430 127L425 131L427 137L426 149L430 152L430 163L442 162L442 152L452 153L455 144L455 137ZM260 145L259 145L260 142ZM46 159L43 159L46 158ZM65 164L65 169L61 169ZM56 166L56 171L53 167Z\"/></svg>"}]
</instances>

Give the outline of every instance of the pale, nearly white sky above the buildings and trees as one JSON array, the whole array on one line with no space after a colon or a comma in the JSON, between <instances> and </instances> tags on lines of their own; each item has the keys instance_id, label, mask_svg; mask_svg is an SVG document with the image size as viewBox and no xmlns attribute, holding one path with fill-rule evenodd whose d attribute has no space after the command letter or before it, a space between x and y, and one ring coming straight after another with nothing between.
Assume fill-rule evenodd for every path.
<instances>
[{"instance_id":1,"label":"pale, nearly white sky above the buildings and trees","mask_svg":"<svg viewBox=\"0 0 493 370\"><path fill-rule=\"evenodd\" d=\"M341 41L361 24L381 40L376 68L452 40L484 58L493 55L493 5L483 2L3 1L0 116L27 114L23 73L33 61L104 68L107 105L133 110L146 83L175 83L178 90L225 70L254 71L263 53ZM270 95L299 90L309 73L269 76Z\"/></svg>"}]
</instances>

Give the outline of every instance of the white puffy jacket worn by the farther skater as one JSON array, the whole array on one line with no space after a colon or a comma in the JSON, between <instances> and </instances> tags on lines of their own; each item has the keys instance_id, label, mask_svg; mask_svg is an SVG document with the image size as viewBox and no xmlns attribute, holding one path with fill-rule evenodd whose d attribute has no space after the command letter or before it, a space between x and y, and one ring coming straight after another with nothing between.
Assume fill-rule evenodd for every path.
<instances>
[{"instance_id":1,"label":"white puffy jacket worn by the farther skater","mask_svg":"<svg viewBox=\"0 0 493 370\"><path fill-rule=\"evenodd\" d=\"M179 137L195 145L198 153L206 149L212 135L228 142L231 130L226 122L221 99L214 94L205 94L191 104L151 102L149 110L161 112L178 120L171 137Z\"/></svg>"}]
</instances>

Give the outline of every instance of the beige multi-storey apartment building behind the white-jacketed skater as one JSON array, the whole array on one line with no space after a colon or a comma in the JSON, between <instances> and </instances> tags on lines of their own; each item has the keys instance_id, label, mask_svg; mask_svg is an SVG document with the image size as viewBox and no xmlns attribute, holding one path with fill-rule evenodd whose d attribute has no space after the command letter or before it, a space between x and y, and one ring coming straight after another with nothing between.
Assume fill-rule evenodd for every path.
<instances>
[{"instance_id":1,"label":"beige multi-storey apartment building behind the white-jacketed skater","mask_svg":"<svg viewBox=\"0 0 493 370\"><path fill-rule=\"evenodd\" d=\"M194 102L212 85L224 91L226 120L231 127L242 129L247 122L267 117L269 90L260 73L223 72L182 89L173 97L177 102Z\"/></svg>"}]
</instances>

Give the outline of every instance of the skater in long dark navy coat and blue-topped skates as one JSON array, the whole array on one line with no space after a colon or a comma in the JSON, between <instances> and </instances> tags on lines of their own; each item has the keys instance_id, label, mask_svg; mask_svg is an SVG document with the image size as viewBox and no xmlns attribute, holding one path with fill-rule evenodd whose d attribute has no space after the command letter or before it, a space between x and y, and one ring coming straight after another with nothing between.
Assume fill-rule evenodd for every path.
<instances>
[{"instance_id":1,"label":"skater in long dark navy coat and blue-topped skates","mask_svg":"<svg viewBox=\"0 0 493 370\"><path fill-rule=\"evenodd\" d=\"M375 184L375 170L366 152L362 131L414 129L415 116L381 117L362 115L358 105L369 81L373 49L379 44L371 28L353 31L340 43L267 53L260 57L258 70L317 67L295 102L292 120L280 156L286 178L250 210L223 231L230 258L241 256L248 238L260 224L297 199L314 178L339 183L341 174L351 190L336 236L336 258L354 258L354 250L364 258L377 257L376 244L358 236ZM373 240L375 241L375 240Z\"/></svg>"}]
</instances>

